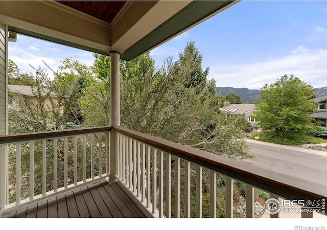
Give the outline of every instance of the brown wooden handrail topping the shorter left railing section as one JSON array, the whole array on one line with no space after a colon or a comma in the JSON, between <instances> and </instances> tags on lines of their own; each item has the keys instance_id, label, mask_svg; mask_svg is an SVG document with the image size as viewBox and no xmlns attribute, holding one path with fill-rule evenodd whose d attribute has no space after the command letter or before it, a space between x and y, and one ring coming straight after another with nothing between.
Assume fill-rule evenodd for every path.
<instances>
[{"instance_id":1,"label":"brown wooden handrail topping the shorter left railing section","mask_svg":"<svg viewBox=\"0 0 327 230\"><path fill-rule=\"evenodd\" d=\"M105 131L110 131L111 128L112 128L111 126L102 126L102 127L81 128L81 129L65 129L65 130L55 130L55 131L47 131L47 132L2 135L0 136L0 145L8 144L8 143L32 141L32 140L52 139L61 136L72 136L72 135L80 135L80 134L95 133L95 132L105 132Z\"/></svg>"}]
</instances>

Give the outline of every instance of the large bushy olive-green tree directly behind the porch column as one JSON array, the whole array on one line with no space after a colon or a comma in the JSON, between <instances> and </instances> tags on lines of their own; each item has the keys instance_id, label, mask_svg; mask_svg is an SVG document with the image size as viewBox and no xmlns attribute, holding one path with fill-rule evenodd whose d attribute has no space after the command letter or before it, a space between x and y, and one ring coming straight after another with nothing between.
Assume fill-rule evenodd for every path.
<instances>
[{"instance_id":1,"label":"large bushy olive-green tree directly behind the porch column","mask_svg":"<svg viewBox=\"0 0 327 230\"><path fill-rule=\"evenodd\" d=\"M194 43L191 47L197 51ZM194 56L185 53L176 62L167 58L159 70L149 54L121 61L122 125L231 158L250 157L242 139L242 118L228 119L220 113L215 81L207 81L208 68L203 72L201 59L194 57L202 56L198 51ZM200 68L185 67L194 60ZM95 63L99 81L88 86L80 100L85 126L109 125L110 73L105 70L110 57L99 55ZM200 75L201 81L190 77Z\"/></svg>"}]
</instances>

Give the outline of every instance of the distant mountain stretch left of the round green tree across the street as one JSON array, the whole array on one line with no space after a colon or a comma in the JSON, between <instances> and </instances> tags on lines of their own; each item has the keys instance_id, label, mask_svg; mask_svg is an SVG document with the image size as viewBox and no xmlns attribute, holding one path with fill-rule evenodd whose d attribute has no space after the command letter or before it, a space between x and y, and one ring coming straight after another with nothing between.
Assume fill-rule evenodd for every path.
<instances>
[{"instance_id":1,"label":"distant mountain stretch left of the round green tree across the street","mask_svg":"<svg viewBox=\"0 0 327 230\"><path fill-rule=\"evenodd\" d=\"M226 96L228 93L238 95L244 104L253 103L255 98L258 97L259 89L248 89L248 88L233 88L233 87L216 87L218 94Z\"/></svg>"}]
</instances>

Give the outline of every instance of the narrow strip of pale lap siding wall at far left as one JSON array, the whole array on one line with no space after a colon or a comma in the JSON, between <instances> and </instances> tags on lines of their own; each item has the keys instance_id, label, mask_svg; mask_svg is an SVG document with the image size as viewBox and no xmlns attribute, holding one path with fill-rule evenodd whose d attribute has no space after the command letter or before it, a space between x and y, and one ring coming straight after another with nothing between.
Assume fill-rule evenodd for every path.
<instances>
[{"instance_id":1,"label":"narrow strip of pale lap siding wall at far left","mask_svg":"<svg viewBox=\"0 0 327 230\"><path fill-rule=\"evenodd\" d=\"M7 133L7 122L6 122L6 34L7 29L4 24L0 21L0 135L6 135Z\"/></svg>"}]
</instances>

